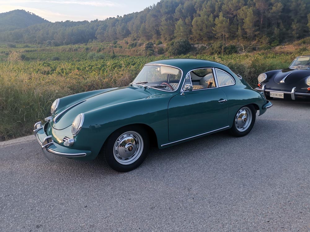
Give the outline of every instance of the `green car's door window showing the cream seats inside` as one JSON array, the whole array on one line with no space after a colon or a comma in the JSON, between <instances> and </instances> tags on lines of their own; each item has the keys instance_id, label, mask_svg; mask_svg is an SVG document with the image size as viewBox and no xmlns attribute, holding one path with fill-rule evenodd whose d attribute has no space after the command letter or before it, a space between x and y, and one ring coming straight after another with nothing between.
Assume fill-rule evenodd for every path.
<instances>
[{"instance_id":1,"label":"green car's door window showing the cream seats inside","mask_svg":"<svg viewBox=\"0 0 310 232\"><path fill-rule=\"evenodd\" d=\"M216 83L212 68L196 69L190 72L193 89L215 88Z\"/></svg>"}]
</instances>

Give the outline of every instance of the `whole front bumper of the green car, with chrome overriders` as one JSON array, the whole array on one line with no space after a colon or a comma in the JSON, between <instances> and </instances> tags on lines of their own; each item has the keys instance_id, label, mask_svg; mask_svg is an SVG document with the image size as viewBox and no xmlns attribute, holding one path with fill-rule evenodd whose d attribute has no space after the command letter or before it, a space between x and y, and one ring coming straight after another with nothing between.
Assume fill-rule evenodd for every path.
<instances>
[{"instance_id":1,"label":"whole front bumper of the green car, with chrome overriders","mask_svg":"<svg viewBox=\"0 0 310 232\"><path fill-rule=\"evenodd\" d=\"M47 123L45 125L47 125ZM67 158L76 158L88 156L91 154L91 151L75 150L54 143L52 136L46 135L46 128L44 128L45 125L42 126L41 122L37 122L36 124L34 124L33 133L38 143L41 145L42 152L49 161L55 160L54 155Z\"/></svg>"}]
</instances>

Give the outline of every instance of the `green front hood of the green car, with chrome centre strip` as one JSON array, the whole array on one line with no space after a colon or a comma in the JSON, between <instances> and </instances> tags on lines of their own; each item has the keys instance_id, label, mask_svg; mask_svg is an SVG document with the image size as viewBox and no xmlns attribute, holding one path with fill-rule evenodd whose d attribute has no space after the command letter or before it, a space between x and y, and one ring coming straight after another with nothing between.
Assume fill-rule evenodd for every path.
<instances>
[{"instance_id":1,"label":"green front hood of the green car, with chrome centre strip","mask_svg":"<svg viewBox=\"0 0 310 232\"><path fill-rule=\"evenodd\" d=\"M134 101L148 96L148 92L141 92L141 90L136 87L122 87L113 89L111 91L87 98L86 101L74 106L62 114L59 118L57 118L56 123L54 123L54 120L52 120L51 126L56 130L62 130L71 126L74 118L80 113L85 113L91 110L96 110L105 106L115 105L126 101ZM70 106L71 105L68 105L66 108L69 108ZM53 117L53 119L56 117L56 115Z\"/></svg>"}]
</instances>

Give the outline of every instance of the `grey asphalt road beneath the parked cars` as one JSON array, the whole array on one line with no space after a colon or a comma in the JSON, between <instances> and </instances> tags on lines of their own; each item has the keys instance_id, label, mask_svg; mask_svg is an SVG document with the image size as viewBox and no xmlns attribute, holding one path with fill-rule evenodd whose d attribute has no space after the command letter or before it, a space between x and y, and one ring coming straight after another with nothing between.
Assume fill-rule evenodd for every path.
<instances>
[{"instance_id":1,"label":"grey asphalt road beneath the parked cars","mask_svg":"<svg viewBox=\"0 0 310 232\"><path fill-rule=\"evenodd\" d=\"M309 231L310 103L273 100L249 135L153 149L129 173L0 144L0 231Z\"/></svg>"}]
</instances>

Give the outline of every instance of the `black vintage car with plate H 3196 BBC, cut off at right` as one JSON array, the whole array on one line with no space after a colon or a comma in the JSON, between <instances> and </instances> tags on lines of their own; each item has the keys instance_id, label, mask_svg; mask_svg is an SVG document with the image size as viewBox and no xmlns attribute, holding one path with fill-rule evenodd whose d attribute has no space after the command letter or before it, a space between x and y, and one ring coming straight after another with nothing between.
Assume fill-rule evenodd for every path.
<instances>
[{"instance_id":1,"label":"black vintage car with plate H 3196 BBC, cut off at right","mask_svg":"<svg viewBox=\"0 0 310 232\"><path fill-rule=\"evenodd\" d=\"M258 87L267 99L310 99L310 56L299 56L290 67L258 76Z\"/></svg>"}]
</instances>

